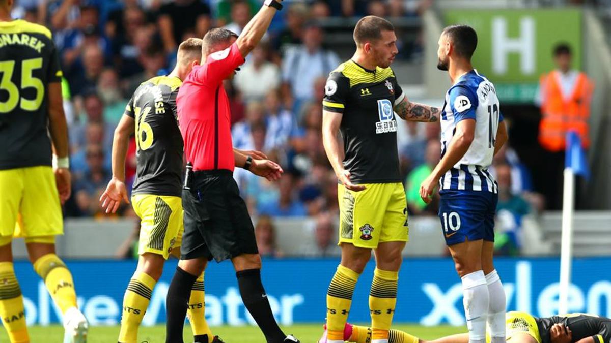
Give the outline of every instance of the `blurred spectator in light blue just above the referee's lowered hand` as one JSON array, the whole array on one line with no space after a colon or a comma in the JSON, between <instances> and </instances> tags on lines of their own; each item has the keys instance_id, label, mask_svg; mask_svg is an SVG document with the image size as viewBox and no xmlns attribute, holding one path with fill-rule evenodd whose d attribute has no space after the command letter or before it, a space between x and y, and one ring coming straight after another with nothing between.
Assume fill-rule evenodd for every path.
<instances>
[{"instance_id":1,"label":"blurred spectator in light blue just above the referee's lowered hand","mask_svg":"<svg viewBox=\"0 0 611 343\"><path fill-rule=\"evenodd\" d=\"M265 151L274 149L284 150L295 126L293 114L288 110L282 109L280 105L278 90L270 90L265 96L265 115L267 120Z\"/></svg>"}]
</instances>

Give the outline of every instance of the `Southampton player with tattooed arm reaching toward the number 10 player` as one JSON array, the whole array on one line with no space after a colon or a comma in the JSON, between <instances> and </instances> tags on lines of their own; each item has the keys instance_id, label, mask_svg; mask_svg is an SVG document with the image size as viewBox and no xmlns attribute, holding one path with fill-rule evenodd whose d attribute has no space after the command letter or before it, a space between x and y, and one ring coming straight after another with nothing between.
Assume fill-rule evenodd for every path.
<instances>
[{"instance_id":1,"label":"Southampton player with tattooed arm reaching toward the number 10 player","mask_svg":"<svg viewBox=\"0 0 611 343\"><path fill-rule=\"evenodd\" d=\"M389 21L362 18L354 40L356 53L331 73L323 101L324 149L341 182L342 261L327 291L328 330L321 343L343 342L354 287L372 249L376 269L369 297L371 342L387 342L401 252L408 240L393 107L404 120L433 122L439 115L436 107L410 103L397 84L389 67L398 53L397 37Z\"/></svg>"}]
</instances>

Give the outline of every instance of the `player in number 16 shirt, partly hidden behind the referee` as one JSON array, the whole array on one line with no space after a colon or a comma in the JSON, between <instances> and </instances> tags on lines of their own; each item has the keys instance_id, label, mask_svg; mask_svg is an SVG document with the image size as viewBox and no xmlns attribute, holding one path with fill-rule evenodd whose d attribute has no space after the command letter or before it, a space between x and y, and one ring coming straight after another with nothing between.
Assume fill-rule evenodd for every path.
<instances>
[{"instance_id":1,"label":"player in number 16 shirt, partly hidden behind the referee","mask_svg":"<svg viewBox=\"0 0 611 343\"><path fill-rule=\"evenodd\" d=\"M125 109L112 145L112 179L100 198L106 212L127 203L125 155L136 134L136 179L132 206L141 218L138 265L123 297L120 343L136 343L137 333L155 284L170 253L180 256L183 231L183 139L176 121L176 96L182 80L202 58L202 40L189 38L178 47L177 64L168 76L158 76L136 89ZM191 289L189 320L194 341L220 342L204 318L203 274Z\"/></svg>"}]
</instances>

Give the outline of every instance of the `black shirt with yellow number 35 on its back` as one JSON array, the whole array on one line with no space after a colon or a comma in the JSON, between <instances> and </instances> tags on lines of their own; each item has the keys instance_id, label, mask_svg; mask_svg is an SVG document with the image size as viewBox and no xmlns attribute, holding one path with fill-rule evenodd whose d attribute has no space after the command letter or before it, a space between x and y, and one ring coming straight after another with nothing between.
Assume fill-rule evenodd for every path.
<instances>
[{"instance_id":1,"label":"black shirt with yellow number 35 on its back","mask_svg":"<svg viewBox=\"0 0 611 343\"><path fill-rule=\"evenodd\" d=\"M0 22L0 170L51 165L48 84L61 77L46 27Z\"/></svg>"}]
</instances>

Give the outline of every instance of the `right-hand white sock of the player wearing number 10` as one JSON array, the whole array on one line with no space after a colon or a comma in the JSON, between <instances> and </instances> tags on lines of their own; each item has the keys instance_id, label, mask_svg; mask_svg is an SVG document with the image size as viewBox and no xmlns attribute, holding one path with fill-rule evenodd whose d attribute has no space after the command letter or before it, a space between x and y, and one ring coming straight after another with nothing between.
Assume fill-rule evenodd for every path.
<instances>
[{"instance_id":1,"label":"right-hand white sock of the player wearing number 10","mask_svg":"<svg viewBox=\"0 0 611 343\"><path fill-rule=\"evenodd\" d=\"M488 327L491 343L505 342L505 291L496 269L486 275L488 285Z\"/></svg>"}]
</instances>

